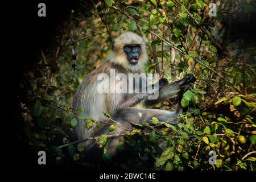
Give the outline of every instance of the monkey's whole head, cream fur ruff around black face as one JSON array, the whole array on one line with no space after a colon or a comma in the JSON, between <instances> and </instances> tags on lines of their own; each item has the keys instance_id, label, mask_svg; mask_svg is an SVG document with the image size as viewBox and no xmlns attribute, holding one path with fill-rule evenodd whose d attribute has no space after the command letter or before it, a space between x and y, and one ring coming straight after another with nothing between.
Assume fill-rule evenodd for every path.
<instances>
[{"instance_id":1,"label":"monkey's whole head, cream fur ruff around black face","mask_svg":"<svg viewBox=\"0 0 256 182\"><path fill-rule=\"evenodd\" d=\"M143 72L147 60L146 43L133 32L122 34L114 40L114 49L110 61L122 65L130 72Z\"/></svg>"}]
</instances>

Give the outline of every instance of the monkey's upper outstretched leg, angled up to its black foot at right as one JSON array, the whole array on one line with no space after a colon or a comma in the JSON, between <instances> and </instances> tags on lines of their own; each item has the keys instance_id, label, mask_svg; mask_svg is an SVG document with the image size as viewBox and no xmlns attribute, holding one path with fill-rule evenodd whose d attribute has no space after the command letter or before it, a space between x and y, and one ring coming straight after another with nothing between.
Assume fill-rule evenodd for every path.
<instances>
[{"instance_id":1,"label":"monkey's upper outstretched leg, angled up to its black foot at right","mask_svg":"<svg viewBox=\"0 0 256 182\"><path fill-rule=\"evenodd\" d=\"M192 82L196 81L196 77L193 74L186 75L179 81L172 82L164 86L162 89L159 90L159 96L155 100L144 100L143 104L145 106L153 106L158 104L159 102L166 101L170 98L177 98L179 97L180 93L185 92L188 89L188 85Z\"/></svg>"}]
</instances>

